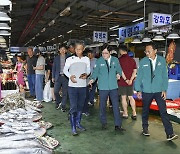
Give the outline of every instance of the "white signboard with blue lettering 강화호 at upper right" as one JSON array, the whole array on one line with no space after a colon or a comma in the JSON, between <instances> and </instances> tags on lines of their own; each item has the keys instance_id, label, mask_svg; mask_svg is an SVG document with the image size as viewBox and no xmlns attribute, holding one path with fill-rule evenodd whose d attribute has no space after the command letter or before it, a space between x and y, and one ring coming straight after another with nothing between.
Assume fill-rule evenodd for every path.
<instances>
[{"instance_id":1,"label":"white signboard with blue lettering \uac15\ud654\ud638 at upper right","mask_svg":"<svg viewBox=\"0 0 180 154\"><path fill-rule=\"evenodd\" d=\"M172 23L172 16L171 14L163 14L163 13L150 13L148 17L148 29L152 29L153 27L160 28L153 28L149 30L150 32L167 32L171 29ZM167 26L169 25L169 26Z\"/></svg>"}]
</instances>

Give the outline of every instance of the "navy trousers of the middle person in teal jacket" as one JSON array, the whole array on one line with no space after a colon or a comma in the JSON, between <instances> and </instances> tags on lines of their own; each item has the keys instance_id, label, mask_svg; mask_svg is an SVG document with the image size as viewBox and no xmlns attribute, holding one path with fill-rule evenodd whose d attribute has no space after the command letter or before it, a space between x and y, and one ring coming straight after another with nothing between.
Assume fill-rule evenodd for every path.
<instances>
[{"instance_id":1,"label":"navy trousers of the middle person in teal jacket","mask_svg":"<svg viewBox=\"0 0 180 154\"><path fill-rule=\"evenodd\" d=\"M120 117L119 111L119 98L118 98L118 89L113 90L99 90L99 97L100 97L100 120L102 124L107 123L106 119L106 104L108 96L112 101L113 105L113 113L114 113L114 123L115 126L121 126L122 120Z\"/></svg>"}]
</instances>

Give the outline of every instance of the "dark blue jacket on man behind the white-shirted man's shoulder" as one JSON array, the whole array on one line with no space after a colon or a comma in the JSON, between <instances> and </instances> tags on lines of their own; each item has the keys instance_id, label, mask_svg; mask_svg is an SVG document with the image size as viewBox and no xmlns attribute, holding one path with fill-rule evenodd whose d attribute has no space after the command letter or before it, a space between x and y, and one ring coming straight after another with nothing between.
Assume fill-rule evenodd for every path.
<instances>
[{"instance_id":1,"label":"dark blue jacket on man behind the white-shirted man's shoulder","mask_svg":"<svg viewBox=\"0 0 180 154\"><path fill-rule=\"evenodd\" d=\"M67 55L66 55L65 59L67 59ZM58 55L54 58L54 62L53 62L53 66L52 66L52 78L54 78L55 81L57 81L60 71L61 71L60 70L60 55ZM62 72L63 72L63 70L62 70Z\"/></svg>"}]
</instances>

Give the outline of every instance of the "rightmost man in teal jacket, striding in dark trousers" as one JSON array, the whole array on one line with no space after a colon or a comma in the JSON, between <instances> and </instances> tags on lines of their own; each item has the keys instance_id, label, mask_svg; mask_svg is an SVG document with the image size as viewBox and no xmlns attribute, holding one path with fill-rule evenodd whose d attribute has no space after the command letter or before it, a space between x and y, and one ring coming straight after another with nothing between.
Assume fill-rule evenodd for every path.
<instances>
[{"instance_id":1,"label":"rightmost man in teal jacket, striding in dark trousers","mask_svg":"<svg viewBox=\"0 0 180 154\"><path fill-rule=\"evenodd\" d=\"M167 140L177 139L174 134L172 124L166 111L166 91L168 88L168 75L165 58L158 56L157 47L154 43L146 44L146 57L140 61L135 90L138 98L143 100L142 111L142 134L150 136L148 131L149 107L153 99L159 107L160 116L165 128Z\"/></svg>"}]
</instances>

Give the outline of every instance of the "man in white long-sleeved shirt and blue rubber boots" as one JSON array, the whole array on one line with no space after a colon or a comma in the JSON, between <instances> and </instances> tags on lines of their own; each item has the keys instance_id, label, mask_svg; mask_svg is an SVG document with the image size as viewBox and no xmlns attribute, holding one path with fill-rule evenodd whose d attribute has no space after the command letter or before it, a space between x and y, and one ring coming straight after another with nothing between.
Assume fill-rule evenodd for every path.
<instances>
[{"instance_id":1,"label":"man in white long-sleeved shirt and blue rubber boots","mask_svg":"<svg viewBox=\"0 0 180 154\"><path fill-rule=\"evenodd\" d=\"M75 45L76 55L66 59L64 74L69 78L68 94L70 100L70 122L72 135L77 135L76 127L86 129L80 124L86 99L86 78L90 74L90 60L83 56L84 45Z\"/></svg>"}]
</instances>

